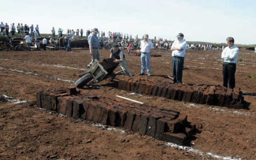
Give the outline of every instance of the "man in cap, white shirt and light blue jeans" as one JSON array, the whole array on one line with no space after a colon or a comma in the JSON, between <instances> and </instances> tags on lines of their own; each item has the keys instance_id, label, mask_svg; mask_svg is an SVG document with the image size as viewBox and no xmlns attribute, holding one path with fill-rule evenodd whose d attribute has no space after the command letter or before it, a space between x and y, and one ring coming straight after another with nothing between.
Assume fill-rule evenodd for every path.
<instances>
[{"instance_id":1,"label":"man in cap, white shirt and light blue jeans","mask_svg":"<svg viewBox=\"0 0 256 160\"><path fill-rule=\"evenodd\" d=\"M153 43L148 40L148 34L144 35L144 40L141 40L140 42L141 46L141 72L139 75L145 75L145 65L147 67L147 75L151 75L150 71L150 53L152 49L154 48Z\"/></svg>"}]
</instances>

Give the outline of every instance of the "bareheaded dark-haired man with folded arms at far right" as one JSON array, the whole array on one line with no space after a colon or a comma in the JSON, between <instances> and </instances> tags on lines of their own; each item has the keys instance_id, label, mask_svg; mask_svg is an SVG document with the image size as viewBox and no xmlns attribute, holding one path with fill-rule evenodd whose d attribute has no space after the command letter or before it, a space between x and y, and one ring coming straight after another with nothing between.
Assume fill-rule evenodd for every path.
<instances>
[{"instance_id":1,"label":"bareheaded dark-haired man with folded arms at far right","mask_svg":"<svg viewBox=\"0 0 256 160\"><path fill-rule=\"evenodd\" d=\"M234 38L228 37L226 41L228 46L221 53L221 58L224 60L223 87L229 85L229 88L233 89L236 86L235 72L239 49L234 45Z\"/></svg>"}]
</instances>

